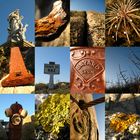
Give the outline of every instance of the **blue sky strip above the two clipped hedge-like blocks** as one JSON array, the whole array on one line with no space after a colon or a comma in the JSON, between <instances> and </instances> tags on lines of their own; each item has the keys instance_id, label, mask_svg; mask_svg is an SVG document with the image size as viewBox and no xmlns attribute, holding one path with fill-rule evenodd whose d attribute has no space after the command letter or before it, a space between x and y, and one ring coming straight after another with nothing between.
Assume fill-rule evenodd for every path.
<instances>
[{"instance_id":1,"label":"blue sky strip above the two clipped hedge-like blocks","mask_svg":"<svg viewBox=\"0 0 140 140\"><path fill-rule=\"evenodd\" d=\"M70 0L71 10L105 12L105 0Z\"/></svg>"}]
</instances>

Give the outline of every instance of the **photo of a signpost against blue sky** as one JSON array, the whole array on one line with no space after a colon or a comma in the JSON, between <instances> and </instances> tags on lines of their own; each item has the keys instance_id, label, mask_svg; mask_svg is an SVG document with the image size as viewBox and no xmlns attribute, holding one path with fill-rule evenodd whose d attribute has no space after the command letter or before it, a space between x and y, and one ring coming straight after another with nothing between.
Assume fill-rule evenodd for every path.
<instances>
[{"instance_id":1,"label":"photo of a signpost against blue sky","mask_svg":"<svg viewBox=\"0 0 140 140\"><path fill-rule=\"evenodd\" d=\"M70 51L63 47L36 47L36 94L70 93Z\"/></svg>"}]
</instances>

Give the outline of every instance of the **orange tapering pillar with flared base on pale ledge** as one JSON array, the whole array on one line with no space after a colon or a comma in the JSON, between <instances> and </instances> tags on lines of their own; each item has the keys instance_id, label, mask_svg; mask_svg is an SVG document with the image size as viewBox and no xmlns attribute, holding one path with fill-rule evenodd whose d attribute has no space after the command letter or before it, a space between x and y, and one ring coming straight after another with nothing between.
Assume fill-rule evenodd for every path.
<instances>
[{"instance_id":1,"label":"orange tapering pillar with flared base on pale ledge","mask_svg":"<svg viewBox=\"0 0 140 140\"><path fill-rule=\"evenodd\" d=\"M19 47L11 48L9 76L2 81L3 87L14 87L34 83L34 77L28 73Z\"/></svg>"}]
</instances>

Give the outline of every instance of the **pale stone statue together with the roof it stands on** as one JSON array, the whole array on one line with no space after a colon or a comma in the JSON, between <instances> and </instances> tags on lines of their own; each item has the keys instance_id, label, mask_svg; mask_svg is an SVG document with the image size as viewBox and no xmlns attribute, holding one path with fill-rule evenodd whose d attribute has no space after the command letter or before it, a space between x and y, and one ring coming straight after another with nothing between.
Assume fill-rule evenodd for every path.
<instances>
[{"instance_id":1,"label":"pale stone statue together with the roof it stands on","mask_svg":"<svg viewBox=\"0 0 140 140\"><path fill-rule=\"evenodd\" d=\"M34 47L32 42L26 40L26 30L28 25L23 25L22 23L23 16L20 15L20 10L16 9L8 15L8 38L6 43L0 45L1 47L11 47L11 46L20 46L20 47Z\"/></svg>"}]
</instances>

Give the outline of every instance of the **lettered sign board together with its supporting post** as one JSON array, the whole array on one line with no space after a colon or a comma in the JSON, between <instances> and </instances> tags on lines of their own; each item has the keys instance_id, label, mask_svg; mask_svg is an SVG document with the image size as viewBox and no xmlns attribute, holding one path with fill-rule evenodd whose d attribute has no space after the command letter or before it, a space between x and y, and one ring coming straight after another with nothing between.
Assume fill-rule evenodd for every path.
<instances>
[{"instance_id":1,"label":"lettered sign board together with its supporting post","mask_svg":"<svg viewBox=\"0 0 140 140\"><path fill-rule=\"evenodd\" d=\"M60 65L55 64L55 62L49 62L49 64L44 64L44 74L50 75L49 89L54 88L54 75L60 74Z\"/></svg>"}]
</instances>

